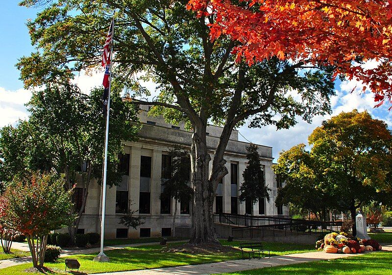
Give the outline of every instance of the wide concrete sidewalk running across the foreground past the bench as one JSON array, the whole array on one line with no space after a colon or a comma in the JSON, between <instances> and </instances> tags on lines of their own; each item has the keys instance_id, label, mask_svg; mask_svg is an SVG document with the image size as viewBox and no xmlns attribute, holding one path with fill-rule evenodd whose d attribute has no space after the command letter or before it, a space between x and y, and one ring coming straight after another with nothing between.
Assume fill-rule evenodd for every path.
<instances>
[{"instance_id":1,"label":"wide concrete sidewalk running across the foreground past the bench","mask_svg":"<svg viewBox=\"0 0 392 275\"><path fill-rule=\"evenodd\" d=\"M392 246L383 247L383 250L392 251ZM148 270L134 270L123 272L100 273L95 275L210 275L246 271L265 267L283 266L298 263L307 263L320 260L331 260L359 256L373 252L361 254L331 254L323 251L297 253L285 256L272 256L270 258L252 260L230 260L219 263L188 265L169 268L155 268Z\"/></svg>"}]
</instances>

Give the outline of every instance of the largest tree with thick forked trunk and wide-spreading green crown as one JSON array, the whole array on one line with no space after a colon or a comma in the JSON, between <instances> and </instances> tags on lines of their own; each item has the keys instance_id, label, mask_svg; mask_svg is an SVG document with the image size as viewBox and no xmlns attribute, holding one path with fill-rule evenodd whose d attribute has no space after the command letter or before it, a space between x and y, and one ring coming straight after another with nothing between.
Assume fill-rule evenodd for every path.
<instances>
[{"instance_id":1,"label":"largest tree with thick forked trunk and wide-spreading green crown","mask_svg":"<svg viewBox=\"0 0 392 275\"><path fill-rule=\"evenodd\" d=\"M37 48L17 64L26 87L67 82L72 72L100 63L110 17L115 16L114 81L133 89L132 96L149 95L141 81L157 84L153 101L132 100L153 107L176 124L185 121L193 132L191 170L193 197L192 244L218 243L212 205L221 178L228 173L223 158L233 129L245 121L251 127L288 128L296 118L310 121L330 111L334 94L330 68L295 63L276 57L248 66L236 62L240 42L227 36L212 41L209 24L216 14L187 9L188 0L26 0L22 5L44 5L27 23ZM315 67L309 70L309 67ZM306 67L306 68L305 68ZM206 127L221 125L211 156Z\"/></svg>"}]
</instances>

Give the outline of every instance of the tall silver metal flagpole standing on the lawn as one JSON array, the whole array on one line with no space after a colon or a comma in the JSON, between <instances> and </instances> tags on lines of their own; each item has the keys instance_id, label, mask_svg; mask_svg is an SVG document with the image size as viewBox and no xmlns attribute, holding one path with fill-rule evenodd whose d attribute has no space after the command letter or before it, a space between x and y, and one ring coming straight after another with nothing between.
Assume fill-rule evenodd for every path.
<instances>
[{"instance_id":1,"label":"tall silver metal flagpole standing on the lawn","mask_svg":"<svg viewBox=\"0 0 392 275\"><path fill-rule=\"evenodd\" d=\"M112 37L114 36L114 17L112 19ZM105 233L105 212L106 212L106 180L107 180L107 151L109 143L109 115L110 115L110 89L112 85L112 56L113 56L113 40L110 50L110 64L109 64L109 95L107 99L106 109L106 132L105 132L105 153L103 161L103 190L102 190L102 219L101 219L101 246L99 254L94 258L94 261L108 262L109 257L103 252L103 238Z\"/></svg>"}]
</instances>

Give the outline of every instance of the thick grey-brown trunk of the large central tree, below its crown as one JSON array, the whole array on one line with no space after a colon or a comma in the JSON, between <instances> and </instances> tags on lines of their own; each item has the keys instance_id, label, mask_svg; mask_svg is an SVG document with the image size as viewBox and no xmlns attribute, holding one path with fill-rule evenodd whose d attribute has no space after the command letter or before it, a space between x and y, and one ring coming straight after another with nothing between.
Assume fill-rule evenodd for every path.
<instances>
[{"instance_id":1,"label":"thick grey-brown trunk of the large central tree, below its crown","mask_svg":"<svg viewBox=\"0 0 392 275\"><path fill-rule=\"evenodd\" d=\"M205 131L205 127L204 127ZM219 245L214 230L212 206L214 187L209 180L210 155L207 152L205 133L196 131L192 136L191 164L192 184L194 188L193 233L190 244L215 243Z\"/></svg>"}]
</instances>

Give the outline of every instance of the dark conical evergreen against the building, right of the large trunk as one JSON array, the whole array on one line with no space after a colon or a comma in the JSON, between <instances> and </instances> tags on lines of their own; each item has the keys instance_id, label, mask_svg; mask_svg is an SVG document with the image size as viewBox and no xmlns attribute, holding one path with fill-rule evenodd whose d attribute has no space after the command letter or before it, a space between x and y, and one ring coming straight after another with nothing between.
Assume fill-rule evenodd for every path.
<instances>
[{"instance_id":1,"label":"dark conical evergreen against the building, right of the large trunk","mask_svg":"<svg viewBox=\"0 0 392 275\"><path fill-rule=\"evenodd\" d=\"M260 154L257 149L257 145L254 144L246 147L248 165L242 174L244 182L240 188L240 201L250 200L252 205L260 198L267 198L270 201L269 188L266 187ZM253 207L251 211L253 214Z\"/></svg>"}]
</instances>

